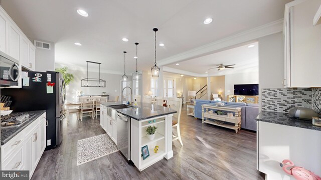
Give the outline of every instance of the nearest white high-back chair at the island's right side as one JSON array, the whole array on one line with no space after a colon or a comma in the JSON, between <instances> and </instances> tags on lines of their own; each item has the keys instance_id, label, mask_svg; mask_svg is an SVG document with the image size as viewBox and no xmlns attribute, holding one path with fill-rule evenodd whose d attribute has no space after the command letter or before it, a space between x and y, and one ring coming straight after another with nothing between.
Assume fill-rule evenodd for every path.
<instances>
[{"instance_id":1,"label":"nearest white high-back chair at the island's right side","mask_svg":"<svg viewBox=\"0 0 321 180\"><path fill-rule=\"evenodd\" d=\"M181 119L181 111L182 111L182 98L177 98L177 97L173 97L173 98L169 98L168 99L168 107L176 110L177 113L173 114L173 120L172 120L172 127L176 127L177 128L177 136L173 134L173 139L174 140L180 140L181 145L183 145L182 142L182 137L181 137L181 131L180 131L180 119Z\"/></svg>"}]
</instances>

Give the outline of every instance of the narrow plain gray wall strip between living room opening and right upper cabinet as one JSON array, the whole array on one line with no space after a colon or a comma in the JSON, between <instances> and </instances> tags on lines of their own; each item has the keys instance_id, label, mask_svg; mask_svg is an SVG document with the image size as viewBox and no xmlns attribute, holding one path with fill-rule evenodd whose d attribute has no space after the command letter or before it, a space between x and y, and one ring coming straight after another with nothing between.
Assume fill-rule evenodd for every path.
<instances>
[{"instance_id":1,"label":"narrow plain gray wall strip between living room opening and right upper cabinet","mask_svg":"<svg viewBox=\"0 0 321 180\"><path fill-rule=\"evenodd\" d=\"M283 88L283 34L274 33L259 40L259 110L263 88Z\"/></svg>"}]
</instances>

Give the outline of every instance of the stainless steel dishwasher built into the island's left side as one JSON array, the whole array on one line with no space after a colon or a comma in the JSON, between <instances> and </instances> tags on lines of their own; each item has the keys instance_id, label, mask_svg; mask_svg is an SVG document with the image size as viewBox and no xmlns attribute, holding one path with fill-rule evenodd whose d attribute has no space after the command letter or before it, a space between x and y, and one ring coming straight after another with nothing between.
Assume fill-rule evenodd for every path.
<instances>
[{"instance_id":1,"label":"stainless steel dishwasher built into the island's left side","mask_svg":"<svg viewBox=\"0 0 321 180\"><path fill-rule=\"evenodd\" d=\"M130 160L130 117L117 112L117 147Z\"/></svg>"}]
</instances>

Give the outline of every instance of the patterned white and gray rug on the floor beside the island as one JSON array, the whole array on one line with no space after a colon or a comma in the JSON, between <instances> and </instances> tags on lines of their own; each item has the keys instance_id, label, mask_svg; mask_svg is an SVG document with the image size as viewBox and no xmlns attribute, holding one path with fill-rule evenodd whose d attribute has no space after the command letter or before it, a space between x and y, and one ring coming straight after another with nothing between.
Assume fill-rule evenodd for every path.
<instances>
[{"instance_id":1,"label":"patterned white and gray rug on the floor beside the island","mask_svg":"<svg viewBox=\"0 0 321 180\"><path fill-rule=\"evenodd\" d=\"M80 139L78 140L77 147L77 165L81 165L119 150L117 145L106 133Z\"/></svg>"}]
</instances>

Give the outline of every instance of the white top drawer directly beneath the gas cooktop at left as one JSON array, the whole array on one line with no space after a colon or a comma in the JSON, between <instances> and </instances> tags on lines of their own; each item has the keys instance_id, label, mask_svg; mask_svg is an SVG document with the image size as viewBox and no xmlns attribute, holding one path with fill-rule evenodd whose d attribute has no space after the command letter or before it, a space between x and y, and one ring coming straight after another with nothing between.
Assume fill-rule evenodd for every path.
<instances>
[{"instance_id":1,"label":"white top drawer directly beneath the gas cooktop at left","mask_svg":"<svg viewBox=\"0 0 321 180\"><path fill-rule=\"evenodd\" d=\"M1 149L1 156L2 161L7 159L7 156L12 153L14 150L17 149L20 144L23 143L23 133L20 132L16 136L14 136L12 139L10 139L7 143L2 145Z\"/></svg>"}]
</instances>

